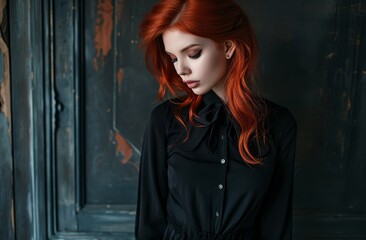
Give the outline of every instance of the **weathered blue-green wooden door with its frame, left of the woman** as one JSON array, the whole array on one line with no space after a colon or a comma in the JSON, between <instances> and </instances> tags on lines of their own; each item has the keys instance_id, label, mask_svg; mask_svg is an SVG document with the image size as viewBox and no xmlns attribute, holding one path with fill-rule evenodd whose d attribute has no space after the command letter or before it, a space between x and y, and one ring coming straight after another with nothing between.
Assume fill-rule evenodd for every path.
<instances>
[{"instance_id":1,"label":"weathered blue-green wooden door with its frame, left of the woman","mask_svg":"<svg viewBox=\"0 0 366 240\"><path fill-rule=\"evenodd\" d=\"M16 213L31 213L17 238L132 239L156 96L138 48L147 2L11 3Z\"/></svg>"}]
</instances>

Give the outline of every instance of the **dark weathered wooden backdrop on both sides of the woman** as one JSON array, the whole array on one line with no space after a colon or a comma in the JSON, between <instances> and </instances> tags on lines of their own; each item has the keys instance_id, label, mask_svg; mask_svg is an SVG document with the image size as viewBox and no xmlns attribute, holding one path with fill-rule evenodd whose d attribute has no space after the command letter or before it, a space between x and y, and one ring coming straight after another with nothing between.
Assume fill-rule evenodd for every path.
<instances>
[{"instance_id":1,"label":"dark weathered wooden backdrop on both sides of the woman","mask_svg":"<svg viewBox=\"0 0 366 240\"><path fill-rule=\"evenodd\" d=\"M133 239L154 2L0 0L0 239ZM366 239L365 1L238 2L298 122L294 239Z\"/></svg>"}]
</instances>

